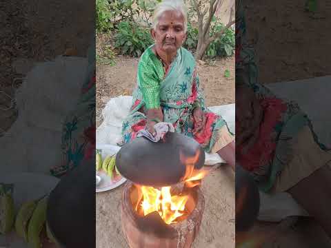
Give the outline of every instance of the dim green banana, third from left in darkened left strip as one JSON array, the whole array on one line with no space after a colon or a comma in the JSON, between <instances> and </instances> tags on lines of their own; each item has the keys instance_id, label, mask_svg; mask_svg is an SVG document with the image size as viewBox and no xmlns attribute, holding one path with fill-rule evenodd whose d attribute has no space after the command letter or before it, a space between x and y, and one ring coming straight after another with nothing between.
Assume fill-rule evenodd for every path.
<instances>
[{"instance_id":1,"label":"dim green banana, third from left in darkened left strip","mask_svg":"<svg viewBox=\"0 0 331 248\"><path fill-rule=\"evenodd\" d=\"M46 223L47 197L37 203L28 225L28 243L32 248L41 247L41 231Z\"/></svg>"}]
</instances>

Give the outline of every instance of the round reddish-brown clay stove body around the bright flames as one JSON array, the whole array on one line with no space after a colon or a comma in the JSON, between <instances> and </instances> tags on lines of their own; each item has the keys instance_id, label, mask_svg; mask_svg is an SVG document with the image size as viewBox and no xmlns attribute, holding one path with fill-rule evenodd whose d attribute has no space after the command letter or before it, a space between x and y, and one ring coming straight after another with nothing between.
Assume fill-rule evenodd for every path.
<instances>
[{"instance_id":1,"label":"round reddish-brown clay stove body around the bright flames","mask_svg":"<svg viewBox=\"0 0 331 248\"><path fill-rule=\"evenodd\" d=\"M166 224L157 211L139 213L136 185L126 184L121 201L122 227L131 248L189 248L201 225L205 200L199 187L185 189L188 201L182 216ZM138 208L137 208L138 206ZM137 209L137 210L136 210Z\"/></svg>"}]
</instances>

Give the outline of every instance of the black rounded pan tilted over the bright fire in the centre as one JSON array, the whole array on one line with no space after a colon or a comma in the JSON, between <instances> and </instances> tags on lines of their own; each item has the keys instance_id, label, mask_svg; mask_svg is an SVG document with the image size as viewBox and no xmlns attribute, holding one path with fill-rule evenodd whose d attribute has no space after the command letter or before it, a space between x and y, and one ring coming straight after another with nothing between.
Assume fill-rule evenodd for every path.
<instances>
[{"instance_id":1,"label":"black rounded pan tilted over the bright fire in the centre","mask_svg":"<svg viewBox=\"0 0 331 248\"><path fill-rule=\"evenodd\" d=\"M196 154L199 156L194 161ZM158 143L139 137L123 145L117 153L116 165L121 175L134 183L163 187L183 180L188 166L183 158L189 158L194 169L201 169L205 152L193 138L168 132Z\"/></svg>"}]
</instances>

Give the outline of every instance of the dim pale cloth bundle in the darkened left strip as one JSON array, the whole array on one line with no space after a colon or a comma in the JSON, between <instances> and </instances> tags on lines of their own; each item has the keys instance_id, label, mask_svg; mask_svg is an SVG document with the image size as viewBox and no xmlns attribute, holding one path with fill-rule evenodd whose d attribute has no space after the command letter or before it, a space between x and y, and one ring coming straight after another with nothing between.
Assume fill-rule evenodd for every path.
<instances>
[{"instance_id":1,"label":"dim pale cloth bundle in the darkened left strip","mask_svg":"<svg viewBox=\"0 0 331 248\"><path fill-rule=\"evenodd\" d=\"M58 56L36 63L15 92L17 120L0 138L1 173L49 174L61 164L63 122L74 109L88 60Z\"/></svg>"}]
</instances>

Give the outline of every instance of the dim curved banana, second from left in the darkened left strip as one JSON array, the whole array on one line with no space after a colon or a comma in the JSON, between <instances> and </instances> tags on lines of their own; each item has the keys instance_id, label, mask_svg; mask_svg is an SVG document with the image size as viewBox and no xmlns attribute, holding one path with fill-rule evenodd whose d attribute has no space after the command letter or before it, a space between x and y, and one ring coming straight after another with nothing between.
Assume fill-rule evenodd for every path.
<instances>
[{"instance_id":1,"label":"dim curved banana, second from left in the darkened left strip","mask_svg":"<svg viewBox=\"0 0 331 248\"><path fill-rule=\"evenodd\" d=\"M23 203L15 220L15 229L17 234L28 242L28 222L37 207L37 201L31 200L27 203Z\"/></svg>"}]
</instances>

